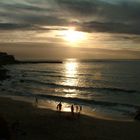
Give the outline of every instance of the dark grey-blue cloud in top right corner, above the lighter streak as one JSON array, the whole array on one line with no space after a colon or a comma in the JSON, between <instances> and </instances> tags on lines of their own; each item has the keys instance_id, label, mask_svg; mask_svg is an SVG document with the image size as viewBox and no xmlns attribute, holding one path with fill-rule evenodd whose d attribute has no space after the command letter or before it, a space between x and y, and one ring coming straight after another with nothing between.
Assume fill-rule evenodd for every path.
<instances>
[{"instance_id":1,"label":"dark grey-blue cloud in top right corner, above the lighter streak","mask_svg":"<svg viewBox=\"0 0 140 140\"><path fill-rule=\"evenodd\" d=\"M56 0L58 5L72 14L90 16L97 21L140 21L140 2L109 3L101 0Z\"/></svg>"}]
</instances>

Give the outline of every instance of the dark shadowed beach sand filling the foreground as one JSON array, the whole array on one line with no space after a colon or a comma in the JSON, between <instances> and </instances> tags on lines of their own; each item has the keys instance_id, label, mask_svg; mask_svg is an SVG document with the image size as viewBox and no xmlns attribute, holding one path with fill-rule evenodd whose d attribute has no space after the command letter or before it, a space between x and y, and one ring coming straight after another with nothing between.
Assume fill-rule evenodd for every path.
<instances>
[{"instance_id":1,"label":"dark shadowed beach sand filling the foreground","mask_svg":"<svg viewBox=\"0 0 140 140\"><path fill-rule=\"evenodd\" d=\"M139 140L140 122L72 117L0 98L0 140ZM4 140L4 139L3 139Z\"/></svg>"}]
</instances>

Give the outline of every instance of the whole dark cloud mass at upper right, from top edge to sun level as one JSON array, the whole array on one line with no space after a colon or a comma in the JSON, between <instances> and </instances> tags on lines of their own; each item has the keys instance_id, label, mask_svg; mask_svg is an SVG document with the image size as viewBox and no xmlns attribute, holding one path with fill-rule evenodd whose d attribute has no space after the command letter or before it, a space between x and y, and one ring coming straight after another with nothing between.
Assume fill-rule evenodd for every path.
<instances>
[{"instance_id":1,"label":"whole dark cloud mass at upper right, from top edge to sun level","mask_svg":"<svg viewBox=\"0 0 140 140\"><path fill-rule=\"evenodd\" d=\"M140 2L99 0L56 0L58 5L81 19L79 30L140 34Z\"/></svg>"}]
</instances>

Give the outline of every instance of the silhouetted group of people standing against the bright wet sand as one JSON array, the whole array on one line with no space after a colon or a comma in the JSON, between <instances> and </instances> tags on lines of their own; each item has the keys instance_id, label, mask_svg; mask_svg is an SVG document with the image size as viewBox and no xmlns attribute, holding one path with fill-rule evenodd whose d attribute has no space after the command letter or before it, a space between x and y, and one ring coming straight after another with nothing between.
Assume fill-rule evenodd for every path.
<instances>
[{"instance_id":1,"label":"silhouetted group of people standing against the bright wet sand","mask_svg":"<svg viewBox=\"0 0 140 140\"><path fill-rule=\"evenodd\" d=\"M58 104L57 104L57 106L56 106L56 109L58 110L58 111L60 111L61 112L61 110L62 110L62 103L61 102L59 102ZM72 113L72 115L74 115L74 111L76 111L76 113L79 113L80 114L80 112L82 111L82 106L81 105L71 105L70 106L70 110L71 110L71 113Z\"/></svg>"}]
</instances>

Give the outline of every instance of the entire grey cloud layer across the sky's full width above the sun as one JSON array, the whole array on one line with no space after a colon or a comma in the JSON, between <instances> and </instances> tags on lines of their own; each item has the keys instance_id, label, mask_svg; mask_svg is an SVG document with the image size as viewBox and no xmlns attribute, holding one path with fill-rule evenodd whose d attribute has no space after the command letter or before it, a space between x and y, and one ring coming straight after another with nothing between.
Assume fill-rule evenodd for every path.
<instances>
[{"instance_id":1,"label":"entire grey cloud layer across the sky's full width above the sun","mask_svg":"<svg viewBox=\"0 0 140 140\"><path fill-rule=\"evenodd\" d=\"M140 34L138 0L9 0L0 2L1 29L69 26L85 32ZM78 22L77 22L78 21ZM11 24L11 25L10 25Z\"/></svg>"}]
</instances>

